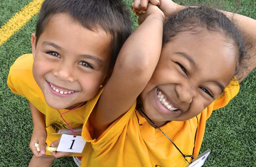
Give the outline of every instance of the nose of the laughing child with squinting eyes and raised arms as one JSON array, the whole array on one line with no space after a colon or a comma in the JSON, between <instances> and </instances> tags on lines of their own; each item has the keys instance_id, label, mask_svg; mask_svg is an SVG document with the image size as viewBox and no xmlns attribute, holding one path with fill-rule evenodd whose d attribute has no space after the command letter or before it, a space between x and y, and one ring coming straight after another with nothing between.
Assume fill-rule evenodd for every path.
<instances>
[{"instance_id":1,"label":"nose of the laughing child with squinting eyes and raised arms","mask_svg":"<svg viewBox=\"0 0 256 167\"><path fill-rule=\"evenodd\" d=\"M185 103L191 103L196 95L195 87L191 84L176 85L175 90L179 100Z\"/></svg>"}]
</instances>

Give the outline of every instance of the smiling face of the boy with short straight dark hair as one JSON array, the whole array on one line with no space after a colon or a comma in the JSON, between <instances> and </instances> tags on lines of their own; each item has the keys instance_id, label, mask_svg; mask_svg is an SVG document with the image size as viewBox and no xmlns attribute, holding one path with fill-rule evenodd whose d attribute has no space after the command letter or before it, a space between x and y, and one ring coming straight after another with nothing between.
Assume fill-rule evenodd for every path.
<instances>
[{"instance_id":1,"label":"smiling face of the boy with short straight dark hair","mask_svg":"<svg viewBox=\"0 0 256 167\"><path fill-rule=\"evenodd\" d=\"M59 13L35 41L32 34L33 76L49 106L70 109L96 95L108 74L111 35Z\"/></svg>"}]
</instances>

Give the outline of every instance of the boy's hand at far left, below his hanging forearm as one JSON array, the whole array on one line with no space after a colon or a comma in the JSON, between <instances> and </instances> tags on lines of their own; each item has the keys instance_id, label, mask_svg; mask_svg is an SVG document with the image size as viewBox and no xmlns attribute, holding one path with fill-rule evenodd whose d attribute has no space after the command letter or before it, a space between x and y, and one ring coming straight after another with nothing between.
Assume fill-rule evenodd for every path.
<instances>
[{"instance_id":1,"label":"boy's hand at far left, below his hanging forearm","mask_svg":"<svg viewBox=\"0 0 256 167\"><path fill-rule=\"evenodd\" d=\"M46 152L46 129L45 128L35 128L33 129L33 133L30 139L30 149L33 152L33 154L35 155L36 158L39 158L41 156L43 156ZM35 143L39 144L39 149L40 151L37 151L36 147L35 147Z\"/></svg>"}]
</instances>

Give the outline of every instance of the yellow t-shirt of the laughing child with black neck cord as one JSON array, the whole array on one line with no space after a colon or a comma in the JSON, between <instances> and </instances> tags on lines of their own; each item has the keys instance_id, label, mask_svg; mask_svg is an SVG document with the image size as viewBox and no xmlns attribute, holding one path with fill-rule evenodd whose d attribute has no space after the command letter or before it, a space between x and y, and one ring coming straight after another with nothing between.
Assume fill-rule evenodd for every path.
<instances>
[{"instance_id":1,"label":"yellow t-shirt of the laughing child with black neck cord","mask_svg":"<svg viewBox=\"0 0 256 167\"><path fill-rule=\"evenodd\" d=\"M224 95L212 102L196 117L188 121L172 121L163 125L165 132L185 155L198 156L206 120L213 110L225 106L239 91L237 86L227 87ZM188 162L160 130L150 126L136 111L136 102L96 140L92 139L88 117L99 95L88 101L82 136L87 140L81 167L185 167ZM107 111L106 111L107 112ZM196 140L195 140L196 135ZM195 150L193 147L195 143ZM191 159L188 158L188 161ZM158 167L159 167L158 166Z\"/></svg>"}]
</instances>

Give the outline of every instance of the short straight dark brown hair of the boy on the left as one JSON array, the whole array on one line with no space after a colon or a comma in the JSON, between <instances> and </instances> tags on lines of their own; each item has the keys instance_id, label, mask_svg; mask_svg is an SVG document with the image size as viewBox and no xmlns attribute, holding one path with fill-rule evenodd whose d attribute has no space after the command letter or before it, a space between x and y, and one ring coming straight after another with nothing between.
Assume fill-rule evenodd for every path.
<instances>
[{"instance_id":1,"label":"short straight dark brown hair of the boy on the left","mask_svg":"<svg viewBox=\"0 0 256 167\"><path fill-rule=\"evenodd\" d=\"M132 32L130 13L122 0L45 0L36 25L36 41L51 16L57 13L68 13L87 29L96 31L100 27L110 33L112 58L109 69L114 66L123 43Z\"/></svg>"}]
</instances>

